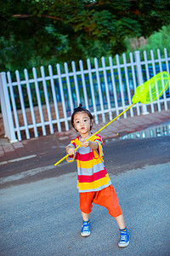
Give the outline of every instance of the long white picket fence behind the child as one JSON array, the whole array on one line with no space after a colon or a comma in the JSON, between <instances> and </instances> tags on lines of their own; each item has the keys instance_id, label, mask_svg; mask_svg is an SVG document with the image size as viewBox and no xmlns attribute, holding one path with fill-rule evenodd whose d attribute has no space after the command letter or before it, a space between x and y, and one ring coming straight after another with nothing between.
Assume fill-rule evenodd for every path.
<instances>
[{"instance_id":1,"label":"long white picket fence behind the child","mask_svg":"<svg viewBox=\"0 0 170 256\"><path fill-rule=\"evenodd\" d=\"M19 71L15 72L15 81L12 81L9 72L0 73L5 134L11 142L15 142L23 137L38 137L41 132L46 136L48 132L68 131L71 113L80 102L93 113L96 124L105 123L132 104L132 96L139 84L161 71L169 73L169 61L167 49L164 49L164 56L157 49L156 58L152 50L150 57L145 51L135 51L129 56L116 55L114 59L94 58L91 62L87 60L86 69L82 61L79 61L79 70L72 61L71 71L67 63L64 67L57 64L57 72L49 65L48 75L41 67L41 74L37 76L37 69L33 67L32 78L25 69L24 79L20 79ZM61 72L61 69L64 71ZM128 113L123 114L123 118L168 108L169 89L156 102L135 104Z\"/></svg>"}]
</instances>

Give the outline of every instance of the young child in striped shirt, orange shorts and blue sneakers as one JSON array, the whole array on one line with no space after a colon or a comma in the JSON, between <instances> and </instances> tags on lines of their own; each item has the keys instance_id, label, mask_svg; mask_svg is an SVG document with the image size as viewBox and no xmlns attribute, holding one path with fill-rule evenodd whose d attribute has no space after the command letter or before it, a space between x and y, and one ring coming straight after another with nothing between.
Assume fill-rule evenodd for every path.
<instances>
[{"instance_id":1,"label":"young child in striped shirt, orange shorts and blue sneakers","mask_svg":"<svg viewBox=\"0 0 170 256\"><path fill-rule=\"evenodd\" d=\"M77 188L79 189L80 209L82 212L81 236L90 235L89 213L92 211L92 203L94 202L106 207L109 214L116 218L120 229L118 246L127 247L129 233L116 191L105 169L102 138L99 135L95 135L86 142L88 137L93 134L91 132L93 122L92 114L86 108L82 108L81 104L78 108L75 108L71 116L71 124L79 132L80 137L71 140L71 143L66 147L66 153L69 154L67 161L77 160ZM79 145L81 145L81 148L74 151L74 148Z\"/></svg>"}]
</instances>

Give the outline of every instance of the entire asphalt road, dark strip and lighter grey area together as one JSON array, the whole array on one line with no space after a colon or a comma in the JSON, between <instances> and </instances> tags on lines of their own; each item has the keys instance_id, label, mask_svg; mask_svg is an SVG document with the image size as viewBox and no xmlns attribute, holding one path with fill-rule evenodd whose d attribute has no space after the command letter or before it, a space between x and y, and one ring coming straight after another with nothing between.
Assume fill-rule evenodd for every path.
<instances>
[{"instance_id":1,"label":"entire asphalt road, dark strip and lighter grey area together","mask_svg":"<svg viewBox=\"0 0 170 256\"><path fill-rule=\"evenodd\" d=\"M6 175L3 169L0 255L170 255L170 137L118 140L105 143L104 150L129 246L117 247L116 221L96 205L91 236L80 236L76 163L53 167L54 151L46 161L42 157L43 166L40 158L32 165L8 164Z\"/></svg>"}]
</instances>

